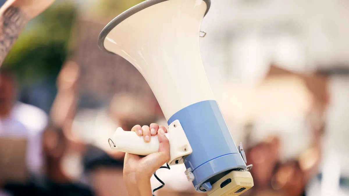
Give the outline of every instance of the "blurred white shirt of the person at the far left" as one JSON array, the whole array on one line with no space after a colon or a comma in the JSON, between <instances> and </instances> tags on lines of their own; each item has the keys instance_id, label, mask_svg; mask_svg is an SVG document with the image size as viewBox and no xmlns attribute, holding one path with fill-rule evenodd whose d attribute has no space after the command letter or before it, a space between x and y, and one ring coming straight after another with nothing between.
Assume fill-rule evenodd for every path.
<instances>
[{"instance_id":1,"label":"blurred white shirt of the person at the far left","mask_svg":"<svg viewBox=\"0 0 349 196\"><path fill-rule=\"evenodd\" d=\"M42 132L47 126L48 116L35 106L17 102L9 117L0 119L0 136L26 138L27 167L38 172L43 165Z\"/></svg>"}]
</instances>

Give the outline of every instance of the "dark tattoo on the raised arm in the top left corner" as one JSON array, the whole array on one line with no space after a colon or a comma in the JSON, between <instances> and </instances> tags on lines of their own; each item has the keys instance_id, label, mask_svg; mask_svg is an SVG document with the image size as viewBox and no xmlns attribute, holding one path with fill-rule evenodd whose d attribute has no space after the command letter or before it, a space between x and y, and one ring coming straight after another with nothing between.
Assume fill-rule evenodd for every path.
<instances>
[{"instance_id":1,"label":"dark tattoo on the raised arm in the top left corner","mask_svg":"<svg viewBox=\"0 0 349 196\"><path fill-rule=\"evenodd\" d=\"M14 6L8 7L0 16L0 66L27 22L28 17Z\"/></svg>"}]
</instances>

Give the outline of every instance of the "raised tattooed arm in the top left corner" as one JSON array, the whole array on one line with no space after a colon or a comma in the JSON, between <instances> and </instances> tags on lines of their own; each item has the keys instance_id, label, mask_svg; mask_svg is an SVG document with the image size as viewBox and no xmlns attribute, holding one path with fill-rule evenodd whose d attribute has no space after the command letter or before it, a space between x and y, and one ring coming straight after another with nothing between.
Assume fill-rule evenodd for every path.
<instances>
[{"instance_id":1,"label":"raised tattooed arm in the top left corner","mask_svg":"<svg viewBox=\"0 0 349 196\"><path fill-rule=\"evenodd\" d=\"M0 8L0 66L25 25L54 0L8 0Z\"/></svg>"}]
</instances>

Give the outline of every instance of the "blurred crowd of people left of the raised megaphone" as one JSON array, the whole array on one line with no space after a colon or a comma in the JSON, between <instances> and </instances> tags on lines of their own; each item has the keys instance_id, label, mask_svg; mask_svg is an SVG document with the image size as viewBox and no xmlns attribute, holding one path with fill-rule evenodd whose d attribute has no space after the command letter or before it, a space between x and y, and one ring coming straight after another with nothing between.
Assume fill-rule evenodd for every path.
<instances>
[{"instance_id":1,"label":"blurred crowd of people left of the raised megaphone","mask_svg":"<svg viewBox=\"0 0 349 196\"><path fill-rule=\"evenodd\" d=\"M126 195L124 153L110 151L107 138L117 127L156 122L161 113L154 101L118 93L105 107L76 112L79 66L68 61L47 115L17 100L11 70L2 68L0 74L1 194Z\"/></svg>"}]
</instances>

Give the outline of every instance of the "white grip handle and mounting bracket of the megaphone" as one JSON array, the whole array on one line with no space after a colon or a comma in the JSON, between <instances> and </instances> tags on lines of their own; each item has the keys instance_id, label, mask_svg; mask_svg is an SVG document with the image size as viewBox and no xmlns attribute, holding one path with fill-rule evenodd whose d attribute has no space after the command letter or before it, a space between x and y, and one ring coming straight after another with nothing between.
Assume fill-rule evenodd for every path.
<instances>
[{"instance_id":1,"label":"white grip handle and mounting bracket of the megaphone","mask_svg":"<svg viewBox=\"0 0 349 196\"><path fill-rule=\"evenodd\" d=\"M170 142L170 160L168 164L181 164L185 156L192 153L193 150L178 120L170 124L167 132L165 135ZM158 152L159 149L157 135L151 136L150 142L146 143L143 136L138 136L134 131L124 131L121 127L115 131L113 139L109 139L108 142L112 150L143 156Z\"/></svg>"}]
</instances>

